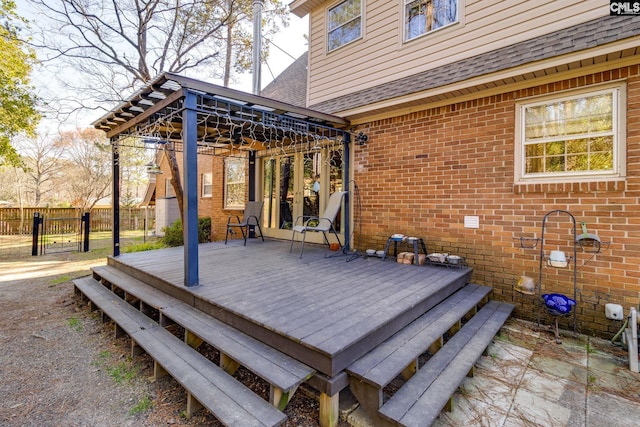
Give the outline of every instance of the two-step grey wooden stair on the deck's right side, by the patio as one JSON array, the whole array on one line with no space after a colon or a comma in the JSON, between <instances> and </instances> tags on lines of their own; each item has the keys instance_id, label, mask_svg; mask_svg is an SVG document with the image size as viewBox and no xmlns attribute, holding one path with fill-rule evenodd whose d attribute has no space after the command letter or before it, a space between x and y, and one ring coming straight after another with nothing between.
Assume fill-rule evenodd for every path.
<instances>
[{"instance_id":1,"label":"two-step grey wooden stair on the deck's right side, by the patio","mask_svg":"<svg viewBox=\"0 0 640 427\"><path fill-rule=\"evenodd\" d=\"M452 409L451 396L514 308L487 302L490 291L463 287L347 368L351 391L376 426L429 426L445 406ZM452 337L445 343L445 336ZM433 356L419 367L427 350ZM407 382L384 402L384 387L400 374Z\"/></svg>"}]
</instances>

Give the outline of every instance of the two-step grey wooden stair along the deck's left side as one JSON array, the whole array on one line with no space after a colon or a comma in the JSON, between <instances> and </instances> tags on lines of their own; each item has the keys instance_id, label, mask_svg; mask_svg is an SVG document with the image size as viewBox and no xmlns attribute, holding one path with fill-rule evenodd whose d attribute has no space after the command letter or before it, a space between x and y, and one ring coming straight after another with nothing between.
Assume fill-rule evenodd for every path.
<instances>
[{"instance_id":1,"label":"two-step grey wooden stair along the deck's left side","mask_svg":"<svg viewBox=\"0 0 640 427\"><path fill-rule=\"evenodd\" d=\"M96 267L94 277L74 281L92 309L113 320L116 335L132 339L147 352L159 373L168 372L187 390L187 413L200 404L226 425L279 425L298 386L315 370L249 337L193 306L173 298L113 267ZM151 317L149 317L151 316ZM163 326L177 323L185 341ZM220 367L195 350L202 342L220 350ZM266 402L233 373L244 366L271 385Z\"/></svg>"}]
</instances>

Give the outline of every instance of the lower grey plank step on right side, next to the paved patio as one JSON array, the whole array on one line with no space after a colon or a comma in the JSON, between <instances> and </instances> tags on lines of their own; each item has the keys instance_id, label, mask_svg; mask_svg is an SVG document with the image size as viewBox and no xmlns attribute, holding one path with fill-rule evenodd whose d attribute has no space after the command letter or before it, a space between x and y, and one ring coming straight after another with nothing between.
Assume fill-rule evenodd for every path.
<instances>
[{"instance_id":1,"label":"lower grey plank step on right side, next to the paved patio","mask_svg":"<svg viewBox=\"0 0 640 427\"><path fill-rule=\"evenodd\" d=\"M430 426L513 309L487 303L380 408L380 415L401 426Z\"/></svg>"}]
</instances>

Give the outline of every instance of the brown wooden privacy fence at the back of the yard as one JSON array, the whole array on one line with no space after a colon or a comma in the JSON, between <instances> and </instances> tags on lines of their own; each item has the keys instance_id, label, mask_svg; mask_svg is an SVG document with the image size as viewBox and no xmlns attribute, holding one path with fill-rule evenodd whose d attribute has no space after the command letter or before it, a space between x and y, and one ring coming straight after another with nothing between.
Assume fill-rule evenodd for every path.
<instances>
[{"instance_id":1,"label":"brown wooden privacy fence at the back of the yard","mask_svg":"<svg viewBox=\"0 0 640 427\"><path fill-rule=\"evenodd\" d=\"M48 219L58 219L70 224L80 220L84 213L79 208L0 208L0 235L31 234L33 216L38 212ZM113 211L111 208L93 208L90 212L90 231L111 231ZM147 220L150 229L155 220L155 209L120 208L120 230L143 230Z\"/></svg>"}]
</instances>

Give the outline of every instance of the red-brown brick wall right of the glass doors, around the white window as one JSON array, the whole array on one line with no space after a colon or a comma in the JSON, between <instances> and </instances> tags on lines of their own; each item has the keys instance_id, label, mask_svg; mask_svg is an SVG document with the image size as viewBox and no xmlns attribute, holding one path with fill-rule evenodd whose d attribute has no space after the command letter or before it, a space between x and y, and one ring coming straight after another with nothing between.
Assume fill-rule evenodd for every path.
<instances>
[{"instance_id":1,"label":"red-brown brick wall right of the glass doors, around the white window","mask_svg":"<svg viewBox=\"0 0 640 427\"><path fill-rule=\"evenodd\" d=\"M625 313L640 302L640 72L631 66L552 84L418 111L366 124L369 141L354 148L354 179L362 202L359 249L381 249L387 237L423 237L429 252L462 255L473 281L536 320L537 300L513 290L521 275L539 281L538 243L545 214L570 212L605 242L598 254L577 251L578 330L610 337L621 324L604 316L607 302ZM627 179L514 185L515 103L518 99L625 79ZM480 227L464 227L465 215ZM567 221L569 229L567 229ZM548 217L546 254L573 255L571 217ZM359 230L357 229L356 232ZM521 239L521 238L524 238ZM573 268L542 269L543 292L573 295ZM548 321L543 313L543 321ZM573 327L573 318L561 326Z\"/></svg>"}]
</instances>

